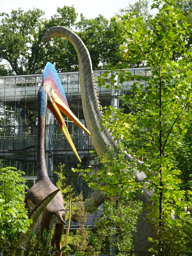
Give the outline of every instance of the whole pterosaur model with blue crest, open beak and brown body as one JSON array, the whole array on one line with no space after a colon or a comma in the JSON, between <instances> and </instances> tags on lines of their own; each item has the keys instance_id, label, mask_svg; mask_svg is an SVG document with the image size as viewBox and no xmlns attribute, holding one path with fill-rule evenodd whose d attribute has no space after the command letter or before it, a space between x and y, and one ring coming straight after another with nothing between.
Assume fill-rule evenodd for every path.
<instances>
[{"instance_id":1,"label":"whole pterosaur model with blue crest, open beak and brown body","mask_svg":"<svg viewBox=\"0 0 192 256\"><path fill-rule=\"evenodd\" d=\"M55 191L57 188L52 184L47 174L46 162L45 162L45 116L46 108L48 107L52 114L57 119L61 130L66 136L72 150L78 160L81 162L78 153L73 145L69 132L67 130L66 124L62 118L60 110L67 115L73 122L75 122L79 127L81 127L88 134L89 131L82 125L79 120L70 111L65 92L62 88L59 76L51 63L47 63L43 72L43 83L39 88L37 94L37 104L38 104L38 134L37 134L37 183L29 189L25 197L26 208L30 213L33 208L47 195ZM65 225L65 208L63 206L63 197L60 191L57 195L50 201L47 207L44 209L39 219L36 222L34 231L37 235L37 239L40 240L44 229L48 232L54 224L55 226L55 236L51 241L51 245L60 249L60 241ZM56 253L60 255L60 253Z\"/></svg>"}]
</instances>

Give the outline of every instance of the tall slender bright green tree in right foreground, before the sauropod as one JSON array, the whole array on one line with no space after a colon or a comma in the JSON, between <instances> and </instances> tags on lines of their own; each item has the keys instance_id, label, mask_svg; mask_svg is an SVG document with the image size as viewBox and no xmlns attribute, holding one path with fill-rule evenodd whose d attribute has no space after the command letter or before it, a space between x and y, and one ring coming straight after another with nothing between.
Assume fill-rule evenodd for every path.
<instances>
[{"instance_id":1,"label":"tall slender bright green tree in right foreground, before the sauropod","mask_svg":"<svg viewBox=\"0 0 192 256\"><path fill-rule=\"evenodd\" d=\"M145 148L138 148L136 155L146 156L140 170L145 170L148 189L154 190L152 204L147 205L151 210L148 221L156 232L153 249L162 251L168 239L163 223L167 227L182 225L181 219L170 220L170 216L184 217L183 207L190 204L191 191L180 190L177 176L180 170L175 168L173 158L174 149L180 147L191 121L192 54L185 40L191 33L190 24L174 1L157 1L153 7L158 8L156 16L149 20L153 30L146 29L143 17L136 16L135 12L112 19L125 62L143 62L150 69L142 76L111 68L120 83L134 80L130 93L124 95L122 101L135 105L136 111L125 114L110 107L105 109L101 121L117 139L145 143ZM174 52L180 54L177 62L173 60ZM100 85L104 84L107 73L103 74ZM113 75L112 86L116 82L114 78ZM185 198L187 203L180 200ZM172 252L176 248L179 250L177 240Z\"/></svg>"}]
</instances>

